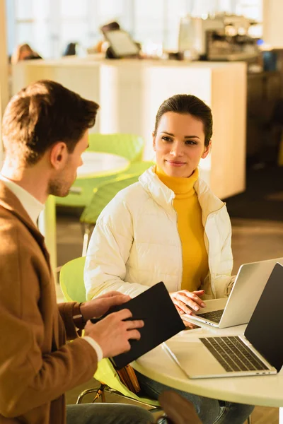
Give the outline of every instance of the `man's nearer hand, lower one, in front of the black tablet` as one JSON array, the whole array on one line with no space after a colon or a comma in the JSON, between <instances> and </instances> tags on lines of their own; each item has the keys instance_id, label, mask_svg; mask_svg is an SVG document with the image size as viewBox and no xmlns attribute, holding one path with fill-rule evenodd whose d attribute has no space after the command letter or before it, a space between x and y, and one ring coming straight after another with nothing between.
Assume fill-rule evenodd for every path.
<instances>
[{"instance_id":1,"label":"man's nearer hand, lower one, in front of the black tablet","mask_svg":"<svg viewBox=\"0 0 283 424\"><path fill-rule=\"evenodd\" d=\"M109 314L97 324L88 321L84 328L85 336L92 337L99 344L103 351L103 358L120 355L131 348L129 339L141 338L137 329L143 327L144 322L127 320L131 317L132 312L125 309Z\"/></svg>"}]
</instances>

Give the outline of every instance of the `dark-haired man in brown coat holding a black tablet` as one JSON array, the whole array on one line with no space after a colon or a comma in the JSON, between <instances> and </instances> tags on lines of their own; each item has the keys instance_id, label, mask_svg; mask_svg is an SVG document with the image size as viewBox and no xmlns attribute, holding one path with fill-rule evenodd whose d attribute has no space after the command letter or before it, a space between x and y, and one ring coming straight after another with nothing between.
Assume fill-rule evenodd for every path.
<instances>
[{"instance_id":1,"label":"dark-haired man in brown coat holding a black tablet","mask_svg":"<svg viewBox=\"0 0 283 424\"><path fill-rule=\"evenodd\" d=\"M37 218L49 194L67 196L88 147L98 105L52 81L21 90L6 107L0 176L0 424L150 423L136 406L67 406L64 392L87 382L98 360L129 350L142 321L129 310L91 324L129 300L112 292L57 305ZM126 321L125 321L126 320ZM85 326L79 338L76 328ZM66 338L73 340L66 344ZM67 415L67 416L66 416Z\"/></svg>"}]
</instances>

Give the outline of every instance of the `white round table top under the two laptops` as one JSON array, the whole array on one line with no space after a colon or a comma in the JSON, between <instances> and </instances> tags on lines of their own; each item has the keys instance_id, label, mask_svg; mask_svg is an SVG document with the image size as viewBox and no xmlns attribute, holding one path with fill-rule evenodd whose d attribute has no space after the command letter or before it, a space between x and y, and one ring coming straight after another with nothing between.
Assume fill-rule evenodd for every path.
<instances>
[{"instance_id":1,"label":"white round table top under the two laptops","mask_svg":"<svg viewBox=\"0 0 283 424\"><path fill-rule=\"evenodd\" d=\"M212 329L204 324L201 329L181 331L175 336L175 340L180 343L186 341L187 348L190 349L189 343L194 341L195 337L212 336L212 334L238 335L243 334L245 328L246 325L229 329ZM189 379L162 346L141 356L132 363L132 366L146 377L192 394L241 404L283 406L282 370L277 375L267 376Z\"/></svg>"}]
</instances>

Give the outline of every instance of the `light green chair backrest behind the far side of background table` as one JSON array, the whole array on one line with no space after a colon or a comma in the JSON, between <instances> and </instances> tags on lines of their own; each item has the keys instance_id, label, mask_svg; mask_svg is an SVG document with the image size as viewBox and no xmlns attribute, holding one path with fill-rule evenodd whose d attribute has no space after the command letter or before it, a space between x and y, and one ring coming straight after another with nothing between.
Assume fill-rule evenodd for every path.
<instances>
[{"instance_id":1,"label":"light green chair backrest behind the far side of background table","mask_svg":"<svg viewBox=\"0 0 283 424\"><path fill-rule=\"evenodd\" d=\"M141 160L144 151L144 139L133 134L89 134L89 150L114 153L130 162Z\"/></svg>"}]
</instances>

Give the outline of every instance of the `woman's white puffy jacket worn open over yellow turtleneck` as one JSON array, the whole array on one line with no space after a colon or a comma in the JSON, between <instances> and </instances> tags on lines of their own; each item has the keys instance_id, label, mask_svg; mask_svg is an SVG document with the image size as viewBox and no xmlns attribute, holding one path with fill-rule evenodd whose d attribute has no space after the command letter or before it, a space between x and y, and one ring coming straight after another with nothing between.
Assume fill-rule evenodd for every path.
<instances>
[{"instance_id":1,"label":"woman's white puffy jacket worn open over yellow turtleneck","mask_svg":"<svg viewBox=\"0 0 283 424\"><path fill-rule=\"evenodd\" d=\"M209 272L202 284L204 298L223 298L233 284L229 215L202 179L195 182L195 191L202 208L209 259ZM88 299L109 290L134 297L159 281L169 292L181 289L182 246L174 196L151 167L104 208L86 255Z\"/></svg>"}]
</instances>

